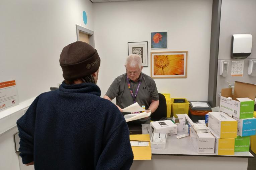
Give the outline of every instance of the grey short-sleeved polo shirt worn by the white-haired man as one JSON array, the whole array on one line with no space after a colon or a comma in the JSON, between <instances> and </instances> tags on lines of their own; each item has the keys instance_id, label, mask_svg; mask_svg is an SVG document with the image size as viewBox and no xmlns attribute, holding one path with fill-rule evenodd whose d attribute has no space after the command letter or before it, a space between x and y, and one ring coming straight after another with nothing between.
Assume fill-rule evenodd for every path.
<instances>
[{"instance_id":1,"label":"grey short-sleeved polo shirt worn by the white-haired man","mask_svg":"<svg viewBox=\"0 0 256 170\"><path fill-rule=\"evenodd\" d=\"M151 100L159 100L156 83L153 78L144 73L141 73L139 79L142 81L137 97L135 98L135 102L138 102L140 106L144 105L145 109L147 110L151 104ZM129 79L129 81L133 94L135 95L139 85L139 80L134 82L133 80ZM106 93L106 96L108 96L111 100L116 98L116 105L122 109L133 104L134 100L131 95L131 91L128 88L126 73L119 75L114 79Z\"/></svg>"}]
</instances>

